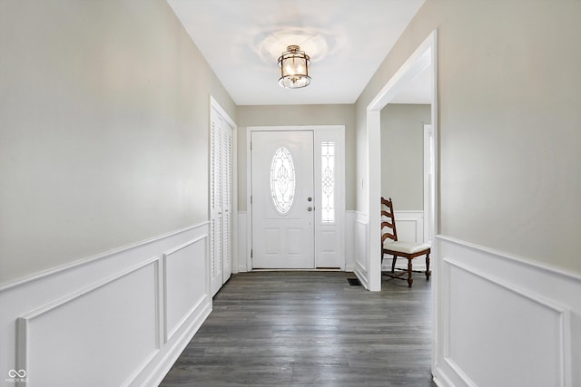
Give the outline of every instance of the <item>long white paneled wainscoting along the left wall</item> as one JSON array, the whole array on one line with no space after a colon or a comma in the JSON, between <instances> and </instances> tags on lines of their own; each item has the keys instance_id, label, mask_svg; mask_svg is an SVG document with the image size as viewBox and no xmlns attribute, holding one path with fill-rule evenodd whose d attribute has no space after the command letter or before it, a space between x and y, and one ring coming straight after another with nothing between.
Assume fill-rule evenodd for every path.
<instances>
[{"instance_id":1,"label":"long white paneled wainscoting along the left wall","mask_svg":"<svg viewBox=\"0 0 581 387\"><path fill-rule=\"evenodd\" d=\"M208 224L0 288L0 380L154 386L212 311Z\"/></svg>"}]
</instances>

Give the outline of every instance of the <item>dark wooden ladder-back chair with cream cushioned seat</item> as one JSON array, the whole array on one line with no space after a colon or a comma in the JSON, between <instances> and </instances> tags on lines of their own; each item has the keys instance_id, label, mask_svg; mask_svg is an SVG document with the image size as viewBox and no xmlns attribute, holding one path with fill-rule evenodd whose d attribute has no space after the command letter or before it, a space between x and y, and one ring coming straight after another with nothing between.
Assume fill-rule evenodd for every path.
<instances>
[{"instance_id":1,"label":"dark wooden ladder-back chair with cream cushioned seat","mask_svg":"<svg viewBox=\"0 0 581 387\"><path fill-rule=\"evenodd\" d=\"M386 254L393 256L391 272L382 272L382 274L384 276L405 280L405 274L408 273L407 279L409 287L411 287L411 284L414 282L411 275L412 272L424 273L426 275L426 280L429 281L429 276L432 274L431 270L429 270L430 247L431 246L427 243L399 241L391 198L389 198L389 200L381 198L381 262L383 263L383 257ZM424 255L426 256L426 271L412 270L412 259ZM398 256L408 259L408 269L398 269L402 270L402 272L396 274L396 260Z\"/></svg>"}]
</instances>

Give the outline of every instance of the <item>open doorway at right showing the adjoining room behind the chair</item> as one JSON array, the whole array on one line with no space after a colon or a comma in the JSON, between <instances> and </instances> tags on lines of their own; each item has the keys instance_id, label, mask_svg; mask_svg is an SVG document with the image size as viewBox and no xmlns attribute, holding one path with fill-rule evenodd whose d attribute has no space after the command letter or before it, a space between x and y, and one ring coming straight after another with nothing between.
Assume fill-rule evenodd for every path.
<instances>
[{"instance_id":1,"label":"open doorway at right showing the adjoining room behind the chair","mask_svg":"<svg viewBox=\"0 0 581 387\"><path fill-rule=\"evenodd\" d=\"M393 200L398 240L419 245L429 243L432 223L429 198L433 190L433 147L430 125L426 123L431 114L431 81L427 81L413 94L400 94L381 110L380 116L381 197ZM382 272L391 271L392 259L389 254L383 255ZM426 270L423 259L414 259L413 265L416 270ZM408 263L399 259L395 267L407 270Z\"/></svg>"}]
</instances>

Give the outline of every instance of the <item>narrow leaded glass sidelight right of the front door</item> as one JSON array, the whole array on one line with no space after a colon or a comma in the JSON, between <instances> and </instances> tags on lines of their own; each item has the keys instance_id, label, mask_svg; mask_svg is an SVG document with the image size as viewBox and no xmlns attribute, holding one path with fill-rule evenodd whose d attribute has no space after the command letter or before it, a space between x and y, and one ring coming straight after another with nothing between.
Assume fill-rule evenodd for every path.
<instances>
[{"instance_id":1,"label":"narrow leaded glass sidelight right of the front door","mask_svg":"<svg viewBox=\"0 0 581 387\"><path fill-rule=\"evenodd\" d=\"M320 143L321 222L335 222L335 142Z\"/></svg>"}]
</instances>

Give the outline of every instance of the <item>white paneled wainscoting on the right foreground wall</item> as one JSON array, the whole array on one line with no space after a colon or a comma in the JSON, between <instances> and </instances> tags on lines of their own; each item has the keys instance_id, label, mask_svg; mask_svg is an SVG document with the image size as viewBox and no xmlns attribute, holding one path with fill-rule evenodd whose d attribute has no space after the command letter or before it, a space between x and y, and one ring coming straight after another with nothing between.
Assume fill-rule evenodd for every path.
<instances>
[{"instance_id":1,"label":"white paneled wainscoting on the right foreground wall","mask_svg":"<svg viewBox=\"0 0 581 387\"><path fill-rule=\"evenodd\" d=\"M580 276L450 237L435 243L439 386L581 386Z\"/></svg>"}]
</instances>

